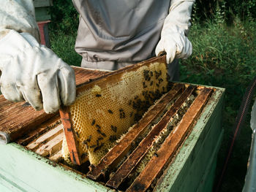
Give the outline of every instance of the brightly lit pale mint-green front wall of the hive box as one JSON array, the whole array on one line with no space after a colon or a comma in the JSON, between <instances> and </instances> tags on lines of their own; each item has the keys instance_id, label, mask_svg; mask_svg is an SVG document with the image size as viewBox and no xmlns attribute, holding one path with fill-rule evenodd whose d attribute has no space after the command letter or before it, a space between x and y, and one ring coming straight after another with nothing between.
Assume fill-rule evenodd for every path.
<instances>
[{"instance_id":1,"label":"brightly lit pale mint-green front wall of the hive box","mask_svg":"<svg viewBox=\"0 0 256 192\"><path fill-rule=\"evenodd\" d=\"M1 188L13 186L16 191L33 192L111 191L15 143L0 145L0 151Z\"/></svg>"}]
</instances>

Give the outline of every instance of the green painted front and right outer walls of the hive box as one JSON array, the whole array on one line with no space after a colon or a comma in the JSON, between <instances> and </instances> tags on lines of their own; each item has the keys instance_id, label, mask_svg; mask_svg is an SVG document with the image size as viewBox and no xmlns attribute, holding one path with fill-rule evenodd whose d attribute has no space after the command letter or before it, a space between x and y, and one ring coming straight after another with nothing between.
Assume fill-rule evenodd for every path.
<instances>
[{"instance_id":1,"label":"green painted front and right outer walls of the hive box","mask_svg":"<svg viewBox=\"0 0 256 192\"><path fill-rule=\"evenodd\" d=\"M222 140L223 93L214 93L156 191L209 191ZM15 143L0 151L0 191L111 191Z\"/></svg>"}]
</instances>

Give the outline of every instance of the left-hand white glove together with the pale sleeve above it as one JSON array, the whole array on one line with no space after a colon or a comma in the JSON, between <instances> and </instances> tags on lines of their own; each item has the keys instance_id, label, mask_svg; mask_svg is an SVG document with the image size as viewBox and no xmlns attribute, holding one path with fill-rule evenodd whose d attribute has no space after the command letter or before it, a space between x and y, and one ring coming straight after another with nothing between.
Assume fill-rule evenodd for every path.
<instances>
[{"instance_id":1,"label":"left-hand white glove together with the pale sleeve above it","mask_svg":"<svg viewBox=\"0 0 256 192\"><path fill-rule=\"evenodd\" d=\"M39 45L32 0L0 0L0 86L10 101L56 112L75 101L75 74L50 49Z\"/></svg>"}]
</instances>

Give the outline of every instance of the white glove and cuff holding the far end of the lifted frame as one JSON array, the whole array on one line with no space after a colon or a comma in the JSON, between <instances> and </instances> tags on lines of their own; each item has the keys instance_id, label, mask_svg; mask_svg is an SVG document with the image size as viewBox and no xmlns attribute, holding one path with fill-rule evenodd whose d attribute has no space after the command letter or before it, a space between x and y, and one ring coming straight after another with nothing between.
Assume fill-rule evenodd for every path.
<instances>
[{"instance_id":1,"label":"white glove and cuff holding the far end of the lifted frame","mask_svg":"<svg viewBox=\"0 0 256 192\"><path fill-rule=\"evenodd\" d=\"M156 47L156 55L165 51L167 64L174 58L188 58L192 53L192 44L187 39L192 5L195 1L173 0L170 12L162 27L161 39Z\"/></svg>"}]
</instances>

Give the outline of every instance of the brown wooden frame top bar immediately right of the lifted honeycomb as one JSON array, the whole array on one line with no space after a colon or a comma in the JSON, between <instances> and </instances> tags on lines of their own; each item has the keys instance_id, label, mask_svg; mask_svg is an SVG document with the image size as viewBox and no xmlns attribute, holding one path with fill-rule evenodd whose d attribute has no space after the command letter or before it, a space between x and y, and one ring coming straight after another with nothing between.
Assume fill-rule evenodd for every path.
<instances>
[{"instance_id":1,"label":"brown wooden frame top bar immediately right of the lifted honeycomb","mask_svg":"<svg viewBox=\"0 0 256 192\"><path fill-rule=\"evenodd\" d=\"M149 110L145 116L136 124L122 139L115 145L106 155L102 158L99 164L92 168L91 172L88 173L88 177L93 180L97 180L102 174L105 174L108 167L113 164L118 164L116 162L118 156L123 156L125 152L129 150L131 147L132 142L137 139L140 134L147 128L155 119L158 118L159 114L165 110L166 105L168 102L175 99L181 91L183 91L184 85L176 84L173 86L172 90L169 91L162 99L157 101L157 104Z\"/></svg>"}]
</instances>

